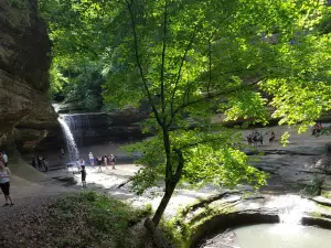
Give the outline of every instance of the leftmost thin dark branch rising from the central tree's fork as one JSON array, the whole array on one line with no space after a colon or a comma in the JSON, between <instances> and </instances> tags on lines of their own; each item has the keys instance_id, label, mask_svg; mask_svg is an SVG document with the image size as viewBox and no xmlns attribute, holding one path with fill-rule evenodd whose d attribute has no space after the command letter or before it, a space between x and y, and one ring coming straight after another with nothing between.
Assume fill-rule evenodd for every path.
<instances>
[{"instance_id":1,"label":"leftmost thin dark branch rising from the central tree's fork","mask_svg":"<svg viewBox=\"0 0 331 248\"><path fill-rule=\"evenodd\" d=\"M132 9L131 9L134 0L131 0L131 2L129 2L129 0L126 0L126 3L127 3L127 8L129 10L129 13L130 13L130 18L131 18L131 25L132 25L134 39L135 39L135 55L136 55L137 65L138 65L139 72L140 72L140 77L142 79L143 87L145 87L148 100L149 100L149 103L150 103L150 105L152 107L152 110L153 110L153 114L156 116L156 119L157 119L158 123L162 127L163 122L161 121L160 116L159 116L159 111L158 111L158 109L156 108L156 106L153 104L153 99L152 99L151 94L149 91L147 79L145 78L142 65L141 65L140 57L139 57L136 21L135 21L135 15L134 15L134 12L132 12Z\"/></svg>"}]
</instances>

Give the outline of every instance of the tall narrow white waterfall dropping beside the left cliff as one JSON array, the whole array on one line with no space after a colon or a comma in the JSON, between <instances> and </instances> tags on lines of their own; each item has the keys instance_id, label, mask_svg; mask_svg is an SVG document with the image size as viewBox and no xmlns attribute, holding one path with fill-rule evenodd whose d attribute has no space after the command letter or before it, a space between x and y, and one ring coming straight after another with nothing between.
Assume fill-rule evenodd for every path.
<instances>
[{"instance_id":1,"label":"tall narrow white waterfall dropping beside the left cliff","mask_svg":"<svg viewBox=\"0 0 331 248\"><path fill-rule=\"evenodd\" d=\"M57 120L61 123L63 133L65 136L65 142L66 142L68 158L70 158L71 162L76 161L76 159L79 158L79 152L78 152L74 136L70 129L70 126L67 125L65 117L62 115L60 115Z\"/></svg>"}]
</instances>

